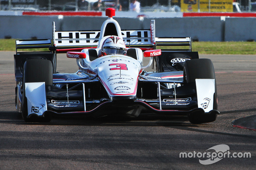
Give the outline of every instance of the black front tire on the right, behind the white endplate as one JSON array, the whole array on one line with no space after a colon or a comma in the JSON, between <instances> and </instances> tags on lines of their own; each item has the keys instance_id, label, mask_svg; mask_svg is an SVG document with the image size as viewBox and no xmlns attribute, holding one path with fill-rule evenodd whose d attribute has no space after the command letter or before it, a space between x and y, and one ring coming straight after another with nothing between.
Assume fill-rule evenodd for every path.
<instances>
[{"instance_id":1,"label":"black front tire on the right, behind the white endplate","mask_svg":"<svg viewBox=\"0 0 256 170\"><path fill-rule=\"evenodd\" d=\"M215 78L215 71L213 67L213 63L210 59L202 58L202 59L193 59L187 60L184 64L183 68L183 81L185 83L194 83L197 78L208 78L215 79L215 93L213 96L213 109L218 109L217 104L217 85ZM217 114L212 112L211 114L201 115L199 113L193 113L188 115L188 119L191 123L207 123L213 122L216 120Z\"/></svg>"}]
</instances>

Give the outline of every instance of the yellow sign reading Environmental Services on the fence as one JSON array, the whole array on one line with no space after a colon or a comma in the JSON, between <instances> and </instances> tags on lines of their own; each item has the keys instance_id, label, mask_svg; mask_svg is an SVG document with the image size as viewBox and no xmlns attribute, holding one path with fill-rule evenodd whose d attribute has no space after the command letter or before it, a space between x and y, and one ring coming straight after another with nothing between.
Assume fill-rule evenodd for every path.
<instances>
[{"instance_id":1,"label":"yellow sign reading Environmental Services on the fence","mask_svg":"<svg viewBox=\"0 0 256 170\"><path fill-rule=\"evenodd\" d=\"M233 0L181 0L181 11L197 12L198 2L200 12L233 12Z\"/></svg>"}]
</instances>

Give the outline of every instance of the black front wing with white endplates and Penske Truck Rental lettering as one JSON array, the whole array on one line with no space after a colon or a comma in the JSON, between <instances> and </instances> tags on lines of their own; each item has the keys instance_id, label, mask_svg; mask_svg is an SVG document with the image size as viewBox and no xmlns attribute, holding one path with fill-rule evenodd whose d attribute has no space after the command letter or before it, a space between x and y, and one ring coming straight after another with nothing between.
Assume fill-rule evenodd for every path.
<instances>
[{"instance_id":1,"label":"black front wing with white endplates and Penske Truck Rental lettering","mask_svg":"<svg viewBox=\"0 0 256 170\"><path fill-rule=\"evenodd\" d=\"M129 115L134 108L164 115L218 112L213 109L214 79L196 79L195 84L181 86L178 84L182 84L182 82L139 79L135 101L127 99L110 100L106 96L104 98L105 94L101 91L100 96L89 95L89 85L100 85L97 79L54 82L55 85L67 83L76 85L71 88L60 89L56 86L45 86L44 82L27 83L26 88L29 88L29 91L37 91L37 100L33 96L35 93L26 92L28 116L34 114L42 116L44 113L100 116L118 112ZM166 84L171 84L172 88L164 88ZM97 88L100 89L101 87Z\"/></svg>"}]
</instances>

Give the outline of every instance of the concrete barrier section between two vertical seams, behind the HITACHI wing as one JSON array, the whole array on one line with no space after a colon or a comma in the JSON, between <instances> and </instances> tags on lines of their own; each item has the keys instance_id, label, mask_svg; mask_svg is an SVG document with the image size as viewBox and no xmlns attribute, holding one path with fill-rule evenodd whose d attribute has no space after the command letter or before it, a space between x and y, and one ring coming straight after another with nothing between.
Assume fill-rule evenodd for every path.
<instances>
[{"instance_id":1,"label":"concrete barrier section between two vertical seams, behind the HITACHI wing","mask_svg":"<svg viewBox=\"0 0 256 170\"><path fill-rule=\"evenodd\" d=\"M149 29L151 19L155 19L158 37L192 37L199 41L223 40L223 22L219 17L115 19L121 29ZM105 17L64 17L60 30L100 30L105 20Z\"/></svg>"}]
</instances>

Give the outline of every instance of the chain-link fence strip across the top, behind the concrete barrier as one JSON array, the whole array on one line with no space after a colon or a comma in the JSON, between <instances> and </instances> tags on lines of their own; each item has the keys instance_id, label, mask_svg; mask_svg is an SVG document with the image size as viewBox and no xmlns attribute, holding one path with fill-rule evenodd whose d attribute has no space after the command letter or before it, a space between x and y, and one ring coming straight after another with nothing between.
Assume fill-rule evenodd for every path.
<instances>
[{"instance_id":1,"label":"chain-link fence strip across the top, behind the concrete barrier","mask_svg":"<svg viewBox=\"0 0 256 170\"><path fill-rule=\"evenodd\" d=\"M132 0L0 0L4 11L129 11ZM138 0L140 11L256 12L256 0ZM206 10L204 10L204 4ZM230 4L227 9L227 4ZM222 6L221 6L222 5Z\"/></svg>"}]
</instances>

